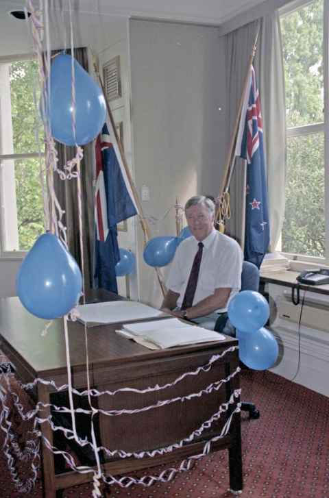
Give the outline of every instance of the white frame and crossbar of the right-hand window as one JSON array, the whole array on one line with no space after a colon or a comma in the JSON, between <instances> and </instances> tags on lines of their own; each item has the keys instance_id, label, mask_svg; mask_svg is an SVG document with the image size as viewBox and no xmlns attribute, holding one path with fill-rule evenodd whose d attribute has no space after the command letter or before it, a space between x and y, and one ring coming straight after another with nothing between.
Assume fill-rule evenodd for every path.
<instances>
[{"instance_id":1,"label":"white frame and crossbar of the right-hand window","mask_svg":"<svg viewBox=\"0 0 329 498\"><path fill-rule=\"evenodd\" d=\"M296 0L287 3L279 10L280 18L292 14L296 10L306 7L313 3L313 0ZM325 234L324 234L324 257L307 256L300 253L289 253L278 249L278 251L293 261L307 262L318 264L320 266L329 265L329 0L323 0L324 18L323 18L323 61L324 61L324 121L322 123L313 123L310 125L301 125L286 128L287 138L296 136L308 136L311 134L324 133L324 213L325 213ZM326 216L326 213L328 215ZM281 242L279 241L278 244Z\"/></svg>"}]
</instances>

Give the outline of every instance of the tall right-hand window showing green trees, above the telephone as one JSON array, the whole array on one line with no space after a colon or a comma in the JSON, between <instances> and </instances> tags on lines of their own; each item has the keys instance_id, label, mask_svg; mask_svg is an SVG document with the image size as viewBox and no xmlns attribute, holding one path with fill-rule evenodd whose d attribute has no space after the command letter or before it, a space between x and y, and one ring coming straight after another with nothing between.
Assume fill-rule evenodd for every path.
<instances>
[{"instance_id":1,"label":"tall right-hand window showing green trees, above the telephone","mask_svg":"<svg viewBox=\"0 0 329 498\"><path fill-rule=\"evenodd\" d=\"M326 257L324 3L280 17L287 119L287 186L281 250Z\"/></svg>"}]
</instances>

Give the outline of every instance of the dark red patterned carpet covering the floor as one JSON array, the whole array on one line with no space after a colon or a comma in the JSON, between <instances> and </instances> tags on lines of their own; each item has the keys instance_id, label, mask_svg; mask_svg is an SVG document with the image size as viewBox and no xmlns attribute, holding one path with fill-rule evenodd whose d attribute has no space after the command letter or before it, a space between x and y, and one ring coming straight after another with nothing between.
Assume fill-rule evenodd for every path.
<instances>
[{"instance_id":1,"label":"dark red patterned carpet covering the floor","mask_svg":"<svg viewBox=\"0 0 329 498\"><path fill-rule=\"evenodd\" d=\"M243 414L244 497L329 498L329 398L269 372L243 371L243 399L255 401L260 419ZM27 403L27 398L25 399ZM0 444L3 436L0 435ZM228 498L227 451L212 453L169 484L112 487L117 498ZM24 471L22 464L21 471ZM153 469L153 473L156 470ZM1 453L1 498L22 497L10 481ZM91 497L90 484L64 491L64 498ZM27 495L25 495L27 496ZM41 482L30 497L42 497Z\"/></svg>"}]
</instances>

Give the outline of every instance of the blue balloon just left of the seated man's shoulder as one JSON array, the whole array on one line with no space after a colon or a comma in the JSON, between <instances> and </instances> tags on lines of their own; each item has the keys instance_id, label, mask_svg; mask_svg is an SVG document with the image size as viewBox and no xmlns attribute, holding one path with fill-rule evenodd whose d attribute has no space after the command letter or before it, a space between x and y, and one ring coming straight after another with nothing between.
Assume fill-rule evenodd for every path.
<instances>
[{"instance_id":1,"label":"blue balloon just left of the seated man's shoulder","mask_svg":"<svg viewBox=\"0 0 329 498\"><path fill-rule=\"evenodd\" d=\"M149 266L166 266L175 256L178 247L178 237L155 237L147 242L144 249L144 261Z\"/></svg>"}]
</instances>

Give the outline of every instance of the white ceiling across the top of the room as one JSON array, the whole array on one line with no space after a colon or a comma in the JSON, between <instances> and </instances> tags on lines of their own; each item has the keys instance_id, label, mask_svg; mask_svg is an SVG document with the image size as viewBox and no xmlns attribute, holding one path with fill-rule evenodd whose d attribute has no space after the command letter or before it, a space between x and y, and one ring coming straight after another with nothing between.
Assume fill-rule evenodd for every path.
<instances>
[{"instance_id":1,"label":"white ceiling across the top of the room","mask_svg":"<svg viewBox=\"0 0 329 498\"><path fill-rule=\"evenodd\" d=\"M287 0L44 0L49 5L49 19L56 29L51 40L52 47L62 47L63 21L69 25L69 6L73 12L73 29L75 41L80 46L89 42L97 48L103 36L99 26L106 22L110 32L122 33L126 29L126 19L130 17L147 18L162 21L178 21L211 26L222 26L238 14L252 9L255 5ZM32 0L38 8L40 0ZM25 20L18 21L9 15L12 10L24 10L25 0L0 0L0 57L33 52L32 37ZM94 15L91 15L94 14ZM79 20L76 22L76 20ZM98 26L98 27L97 27ZM234 28L231 28L234 29ZM64 29L65 30L65 29ZM67 30L67 28L66 28ZM80 37L80 38L78 38ZM119 35L117 37L119 39ZM90 41L91 40L91 41ZM78 45L79 45L78 44ZM101 45L103 46L103 45Z\"/></svg>"}]
</instances>

